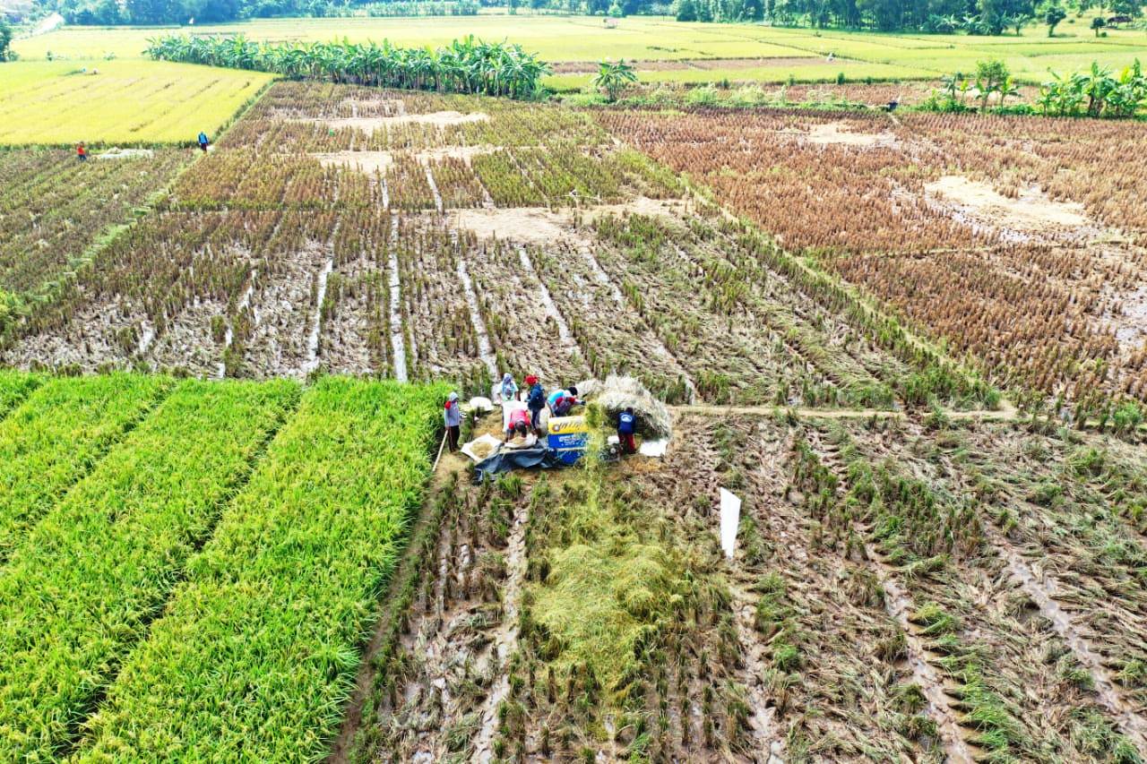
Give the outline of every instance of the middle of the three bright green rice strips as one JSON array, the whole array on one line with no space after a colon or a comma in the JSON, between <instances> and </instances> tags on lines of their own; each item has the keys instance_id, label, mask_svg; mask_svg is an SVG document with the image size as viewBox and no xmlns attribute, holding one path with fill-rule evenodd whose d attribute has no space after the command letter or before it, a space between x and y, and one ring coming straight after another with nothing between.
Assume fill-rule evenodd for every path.
<instances>
[{"instance_id":1,"label":"middle of the three bright green rice strips","mask_svg":"<svg viewBox=\"0 0 1147 764\"><path fill-rule=\"evenodd\" d=\"M0 577L7 753L68 749L297 398L286 381L181 383L13 551Z\"/></svg>"}]
</instances>

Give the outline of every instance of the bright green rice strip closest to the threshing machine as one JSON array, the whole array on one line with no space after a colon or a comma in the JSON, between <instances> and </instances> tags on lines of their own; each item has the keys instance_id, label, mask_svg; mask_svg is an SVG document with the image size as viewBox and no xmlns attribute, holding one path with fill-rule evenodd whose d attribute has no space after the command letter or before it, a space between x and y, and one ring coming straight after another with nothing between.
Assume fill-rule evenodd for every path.
<instances>
[{"instance_id":1,"label":"bright green rice strip closest to the threshing machine","mask_svg":"<svg viewBox=\"0 0 1147 764\"><path fill-rule=\"evenodd\" d=\"M421 504L442 385L325 377L188 561L77 759L315 761Z\"/></svg>"}]
</instances>

